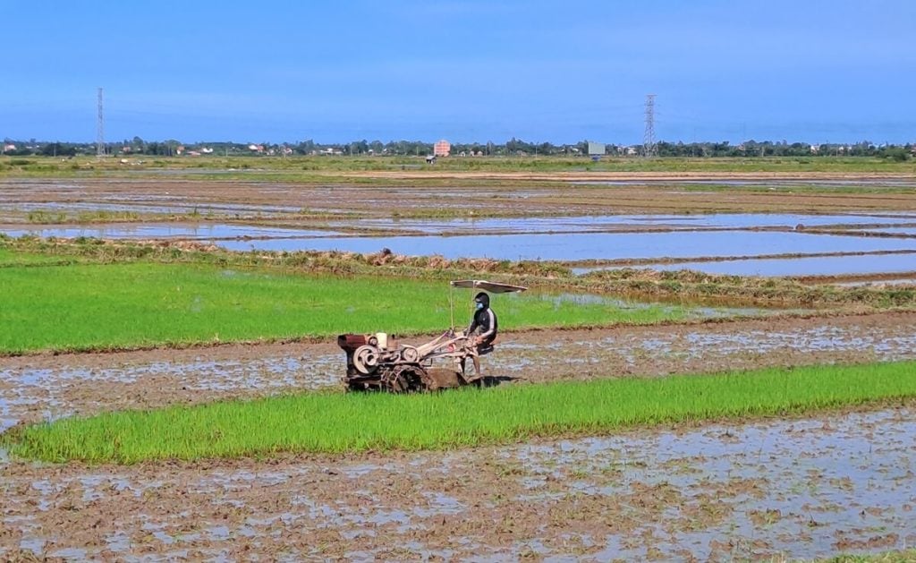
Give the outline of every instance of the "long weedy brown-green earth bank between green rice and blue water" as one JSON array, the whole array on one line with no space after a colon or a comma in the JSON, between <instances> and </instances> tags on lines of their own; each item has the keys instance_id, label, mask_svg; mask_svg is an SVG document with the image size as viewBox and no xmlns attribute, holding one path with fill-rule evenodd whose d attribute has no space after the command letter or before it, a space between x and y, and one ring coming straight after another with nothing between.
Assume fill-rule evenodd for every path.
<instances>
[{"instance_id":1,"label":"long weedy brown-green earth bank between green rice and blue water","mask_svg":"<svg viewBox=\"0 0 916 563\"><path fill-rule=\"evenodd\" d=\"M440 256L404 257L395 254L349 252L230 252L194 244L137 243L77 238L73 241L0 234L0 249L57 257L59 263L194 263L281 273L333 276L411 278L442 283L455 278L487 277L496 281L528 285L543 291L596 293L630 299L692 303L834 307L862 306L878 309L916 307L916 290L907 287L836 287L805 284L791 279L712 275L689 270L653 271L620 269L573 276L573 263L494 259L444 259ZM7 255L16 256L18 252ZM54 263L55 259L47 259ZM0 254L0 266L5 262ZM604 261L576 265L597 266ZM444 287L444 285L442 286Z\"/></svg>"}]
</instances>

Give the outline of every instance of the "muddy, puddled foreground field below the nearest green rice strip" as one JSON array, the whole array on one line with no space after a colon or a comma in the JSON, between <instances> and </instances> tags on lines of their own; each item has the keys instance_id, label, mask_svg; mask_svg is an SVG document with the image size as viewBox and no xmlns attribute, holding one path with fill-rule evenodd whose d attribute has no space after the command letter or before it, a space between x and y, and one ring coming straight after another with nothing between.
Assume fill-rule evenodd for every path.
<instances>
[{"instance_id":1,"label":"muddy, puddled foreground field below the nearest green rice strip","mask_svg":"<svg viewBox=\"0 0 916 563\"><path fill-rule=\"evenodd\" d=\"M0 557L743 560L916 542L916 412L447 453L0 466Z\"/></svg>"}]
</instances>

